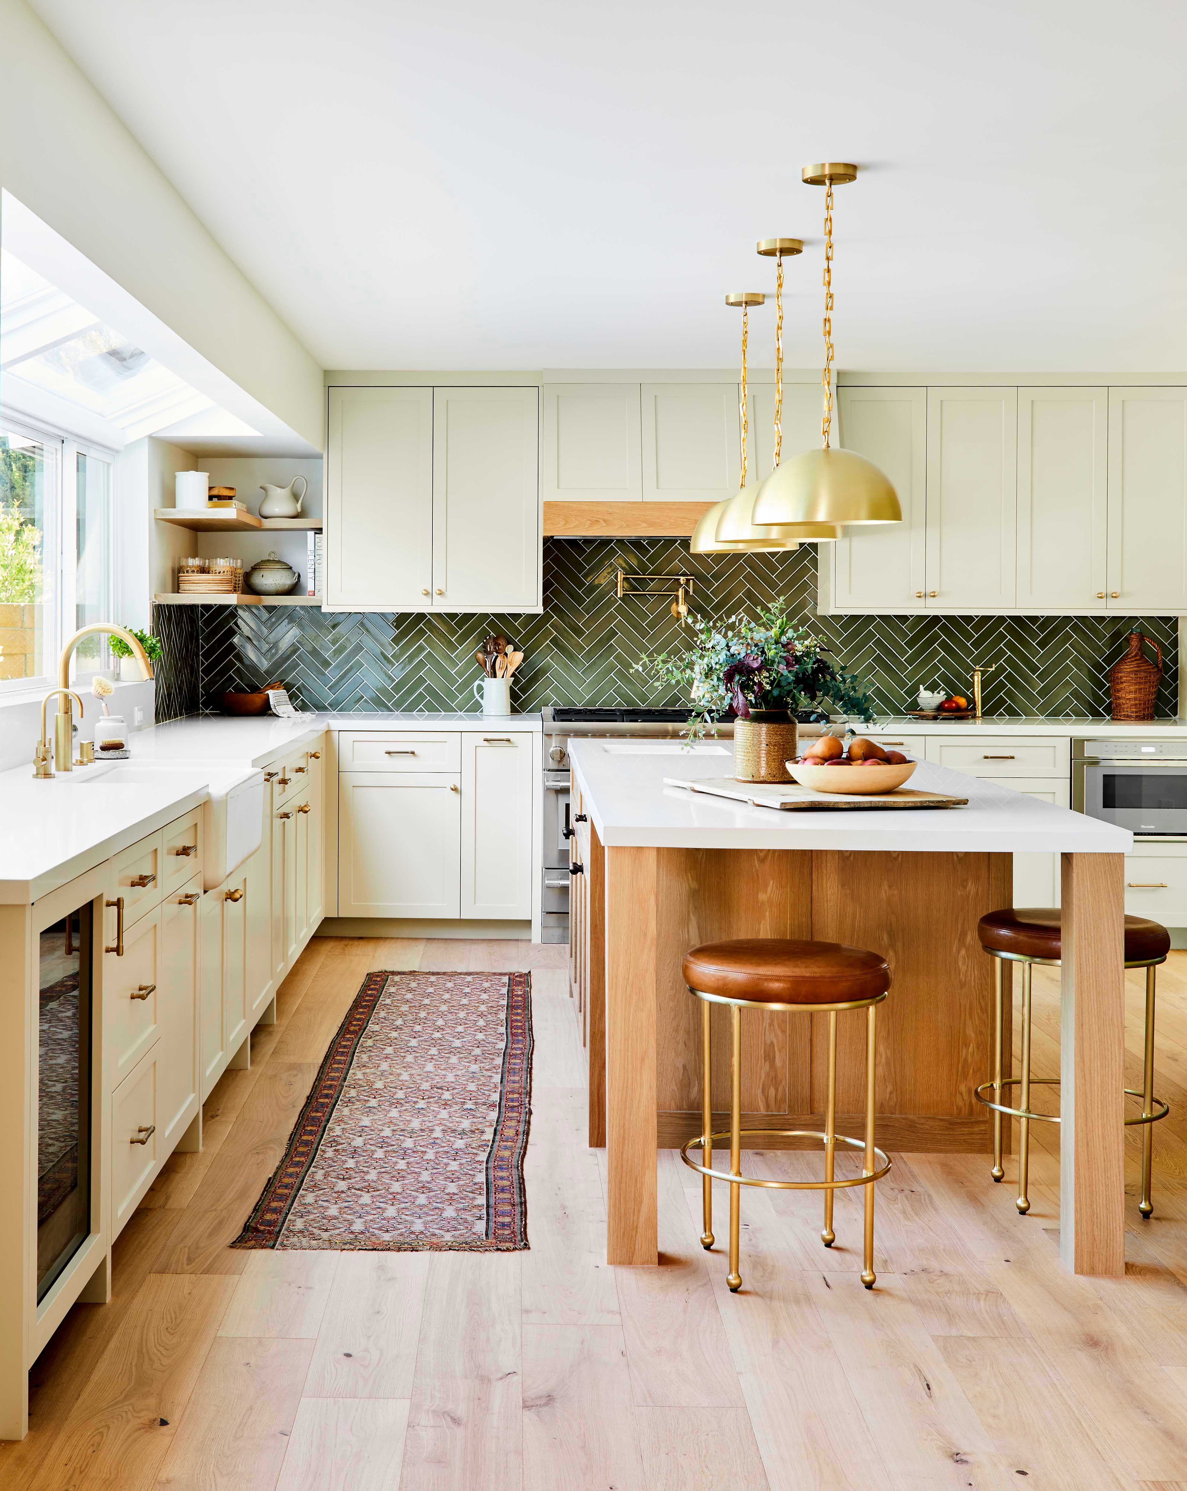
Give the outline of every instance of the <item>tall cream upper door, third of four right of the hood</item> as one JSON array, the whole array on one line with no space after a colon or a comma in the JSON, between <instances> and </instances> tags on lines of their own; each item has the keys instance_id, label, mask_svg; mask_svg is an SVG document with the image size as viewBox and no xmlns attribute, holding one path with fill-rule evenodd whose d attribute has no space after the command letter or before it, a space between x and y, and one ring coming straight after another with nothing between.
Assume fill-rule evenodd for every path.
<instances>
[{"instance_id":1,"label":"tall cream upper door, third of four right of the hood","mask_svg":"<svg viewBox=\"0 0 1187 1491\"><path fill-rule=\"evenodd\" d=\"M1103 611L1108 389L1018 389L1018 610Z\"/></svg>"}]
</instances>

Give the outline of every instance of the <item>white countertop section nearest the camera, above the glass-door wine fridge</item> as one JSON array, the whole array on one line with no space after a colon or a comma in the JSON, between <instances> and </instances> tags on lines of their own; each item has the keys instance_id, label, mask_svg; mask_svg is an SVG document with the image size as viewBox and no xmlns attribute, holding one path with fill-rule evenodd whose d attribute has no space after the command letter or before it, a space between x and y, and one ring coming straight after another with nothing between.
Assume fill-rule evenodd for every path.
<instances>
[{"instance_id":1,"label":"white countertop section nearest the camera, above the glass-door wine fridge","mask_svg":"<svg viewBox=\"0 0 1187 1491\"><path fill-rule=\"evenodd\" d=\"M37 780L0 772L0 904L28 905L206 801L212 772L140 772L104 781L85 771Z\"/></svg>"}]
</instances>

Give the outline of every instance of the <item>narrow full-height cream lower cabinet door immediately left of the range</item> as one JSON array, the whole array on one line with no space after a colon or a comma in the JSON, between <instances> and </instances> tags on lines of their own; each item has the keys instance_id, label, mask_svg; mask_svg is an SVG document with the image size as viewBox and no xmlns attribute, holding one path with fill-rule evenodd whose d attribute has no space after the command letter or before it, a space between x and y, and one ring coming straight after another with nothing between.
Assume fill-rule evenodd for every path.
<instances>
[{"instance_id":1,"label":"narrow full-height cream lower cabinet door immediately left of the range","mask_svg":"<svg viewBox=\"0 0 1187 1491\"><path fill-rule=\"evenodd\" d=\"M526 732L462 735L461 914L532 914L532 757Z\"/></svg>"}]
</instances>

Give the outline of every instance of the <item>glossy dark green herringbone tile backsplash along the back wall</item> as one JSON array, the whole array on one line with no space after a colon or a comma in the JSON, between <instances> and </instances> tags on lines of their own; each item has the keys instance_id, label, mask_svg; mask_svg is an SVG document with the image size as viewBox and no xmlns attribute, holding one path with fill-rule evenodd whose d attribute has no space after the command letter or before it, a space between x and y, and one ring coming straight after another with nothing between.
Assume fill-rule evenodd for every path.
<instances>
[{"instance_id":1,"label":"glossy dark green herringbone tile backsplash along the back wall","mask_svg":"<svg viewBox=\"0 0 1187 1491\"><path fill-rule=\"evenodd\" d=\"M522 647L516 708L546 704L683 704L647 684L643 652L680 644L667 599L614 595L613 573L696 577L693 604L728 614L784 596L860 674L877 708L910 708L920 683L971 692L977 663L990 714L1106 716L1106 669L1133 626L1163 652L1157 714L1177 713L1174 617L816 614L816 549L787 555L689 555L687 541L552 538L544 544L543 616L324 614L313 607L157 607L164 646L158 719L210 708L227 689L282 678L310 710L474 710L474 650L491 632ZM598 583L610 571L610 580Z\"/></svg>"}]
</instances>

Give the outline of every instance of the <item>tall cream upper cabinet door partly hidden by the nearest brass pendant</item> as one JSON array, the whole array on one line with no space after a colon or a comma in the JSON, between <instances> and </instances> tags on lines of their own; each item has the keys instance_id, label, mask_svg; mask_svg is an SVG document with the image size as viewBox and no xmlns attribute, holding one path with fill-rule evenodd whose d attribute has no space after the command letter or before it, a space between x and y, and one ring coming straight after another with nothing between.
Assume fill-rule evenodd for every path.
<instances>
[{"instance_id":1,"label":"tall cream upper cabinet door partly hidden by the nearest brass pendant","mask_svg":"<svg viewBox=\"0 0 1187 1491\"><path fill-rule=\"evenodd\" d=\"M829 558L834 564L834 605L847 611L923 611L928 389L843 388L838 413L840 443L890 477L902 522L848 528L840 543L825 546L820 562L822 568Z\"/></svg>"}]
</instances>

